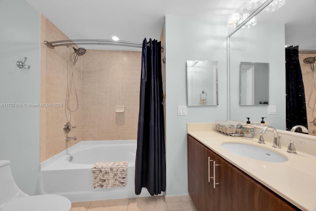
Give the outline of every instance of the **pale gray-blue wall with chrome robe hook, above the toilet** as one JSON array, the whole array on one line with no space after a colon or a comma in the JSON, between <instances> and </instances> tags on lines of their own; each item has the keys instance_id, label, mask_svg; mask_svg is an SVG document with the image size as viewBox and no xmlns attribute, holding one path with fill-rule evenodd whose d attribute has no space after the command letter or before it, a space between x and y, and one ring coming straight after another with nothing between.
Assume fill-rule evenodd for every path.
<instances>
[{"instance_id":1,"label":"pale gray-blue wall with chrome robe hook, above the toilet","mask_svg":"<svg viewBox=\"0 0 316 211\"><path fill-rule=\"evenodd\" d=\"M0 45L0 160L11 161L16 183L33 195L40 167L40 108L4 105L40 102L40 14L24 0L0 0ZM24 56L30 70L16 66Z\"/></svg>"}]
</instances>

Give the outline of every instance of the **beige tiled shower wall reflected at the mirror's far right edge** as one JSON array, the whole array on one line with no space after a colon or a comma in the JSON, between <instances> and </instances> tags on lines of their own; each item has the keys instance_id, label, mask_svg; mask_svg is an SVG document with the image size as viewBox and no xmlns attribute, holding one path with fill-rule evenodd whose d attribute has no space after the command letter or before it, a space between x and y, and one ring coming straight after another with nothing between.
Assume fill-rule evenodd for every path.
<instances>
[{"instance_id":1,"label":"beige tiled shower wall reflected at the mirror's far right edge","mask_svg":"<svg viewBox=\"0 0 316 211\"><path fill-rule=\"evenodd\" d=\"M316 135L313 131L316 130L316 126L313 125L314 120L316 119L316 110L310 109L308 107L308 101L310 98L311 89L313 87L313 71L311 69L310 64L306 64L303 62L303 60L306 57L315 57L315 53L300 53L299 54L299 60L300 65L302 69L302 75L303 75L303 82L304 82L304 89L305 89L305 101L306 101L306 111L307 111L307 124L308 124L308 130L310 135ZM316 90L314 89L312 92L311 100L309 103L310 107L316 108Z\"/></svg>"}]
</instances>

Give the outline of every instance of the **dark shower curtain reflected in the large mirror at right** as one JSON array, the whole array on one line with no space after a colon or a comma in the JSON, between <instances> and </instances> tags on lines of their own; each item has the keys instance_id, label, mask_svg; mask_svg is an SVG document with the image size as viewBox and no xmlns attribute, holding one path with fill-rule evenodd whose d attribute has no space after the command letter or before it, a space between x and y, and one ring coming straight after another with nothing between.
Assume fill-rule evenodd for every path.
<instances>
[{"instance_id":1,"label":"dark shower curtain reflected in the large mirror at right","mask_svg":"<svg viewBox=\"0 0 316 211\"><path fill-rule=\"evenodd\" d=\"M285 48L286 130L296 125L307 128L305 91L298 46Z\"/></svg>"}]
</instances>

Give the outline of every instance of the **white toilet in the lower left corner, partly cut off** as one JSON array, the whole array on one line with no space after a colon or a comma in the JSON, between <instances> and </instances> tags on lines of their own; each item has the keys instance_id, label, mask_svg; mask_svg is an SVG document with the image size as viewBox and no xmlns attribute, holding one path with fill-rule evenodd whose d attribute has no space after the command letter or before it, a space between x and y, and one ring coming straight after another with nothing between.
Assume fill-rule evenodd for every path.
<instances>
[{"instance_id":1,"label":"white toilet in the lower left corner, partly cut off","mask_svg":"<svg viewBox=\"0 0 316 211\"><path fill-rule=\"evenodd\" d=\"M71 202L63 196L29 196L19 189L10 169L10 161L0 160L0 211L70 211Z\"/></svg>"}]
</instances>

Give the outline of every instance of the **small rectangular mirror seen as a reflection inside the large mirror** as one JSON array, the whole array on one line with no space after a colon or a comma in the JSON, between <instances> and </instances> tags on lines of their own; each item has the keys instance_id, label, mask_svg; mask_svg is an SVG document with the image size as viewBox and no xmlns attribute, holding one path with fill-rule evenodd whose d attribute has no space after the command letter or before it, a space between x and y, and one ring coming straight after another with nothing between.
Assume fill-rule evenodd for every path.
<instances>
[{"instance_id":1,"label":"small rectangular mirror seen as a reflection inside the large mirror","mask_svg":"<svg viewBox=\"0 0 316 211\"><path fill-rule=\"evenodd\" d=\"M240 62L240 105L269 104L269 63Z\"/></svg>"}]
</instances>

